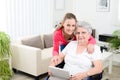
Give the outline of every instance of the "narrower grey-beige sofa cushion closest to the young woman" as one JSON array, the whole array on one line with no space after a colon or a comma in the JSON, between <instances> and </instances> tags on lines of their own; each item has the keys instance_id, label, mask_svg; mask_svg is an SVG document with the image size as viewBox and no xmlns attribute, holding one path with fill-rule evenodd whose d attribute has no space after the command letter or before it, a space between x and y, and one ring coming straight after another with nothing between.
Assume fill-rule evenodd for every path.
<instances>
[{"instance_id":1,"label":"narrower grey-beige sofa cushion closest to the young woman","mask_svg":"<svg viewBox=\"0 0 120 80\"><path fill-rule=\"evenodd\" d=\"M53 46L53 34L45 34L43 36L43 40L45 48L50 48Z\"/></svg>"}]
</instances>

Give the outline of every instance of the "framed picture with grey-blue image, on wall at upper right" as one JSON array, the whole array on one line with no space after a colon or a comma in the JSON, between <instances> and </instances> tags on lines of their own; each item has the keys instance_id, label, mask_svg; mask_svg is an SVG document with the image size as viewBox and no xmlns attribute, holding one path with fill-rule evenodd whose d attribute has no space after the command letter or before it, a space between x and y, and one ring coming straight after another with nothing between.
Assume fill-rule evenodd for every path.
<instances>
[{"instance_id":1,"label":"framed picture with grey-blue image, on wall at upper right","mask_svg":"<svg viewBox=\"0 0 120 80\"><path fill-rule=\"evenodd\" d=\"M96 11L97 12L109 12L110 11L110 0L96 0Z\"/></svg>"}]
</instances>

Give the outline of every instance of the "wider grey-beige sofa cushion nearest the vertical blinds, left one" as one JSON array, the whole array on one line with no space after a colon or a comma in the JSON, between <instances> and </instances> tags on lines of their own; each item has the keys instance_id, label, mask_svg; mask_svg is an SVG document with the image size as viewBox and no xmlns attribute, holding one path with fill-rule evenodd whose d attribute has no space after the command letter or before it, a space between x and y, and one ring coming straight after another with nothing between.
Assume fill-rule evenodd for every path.
<instances>
[{"instance_id":1,"label":"wider grey-beige sofa cushion nearest the vertical blinds, left one","mask_svg":"<svg viewBox=\"0 0 120 80\"><path fill-rule=\"evenodd\" d=\"M40 48L40 49L44 48L41 36L34 36L31 38L23 39L22 44L36 47L36 48Z\"/></svg>"}]
</instances>

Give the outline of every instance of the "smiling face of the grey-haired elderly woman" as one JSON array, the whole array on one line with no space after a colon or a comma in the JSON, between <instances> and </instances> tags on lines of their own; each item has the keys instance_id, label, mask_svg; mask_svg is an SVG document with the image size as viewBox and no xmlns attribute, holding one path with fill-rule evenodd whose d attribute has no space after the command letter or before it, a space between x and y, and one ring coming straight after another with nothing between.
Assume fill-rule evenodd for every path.
<instances>
[{"instance_id":1,"label":"smiling face of the grey-haired elderly woman","mask_svg":"<svg viewBox=\"0 0 120 80\"><path fill-rule=\"evenodd\" d=\"M87 43L90 38L90 33L82 27L76 29L76 38L80 43Z\"/></svg>"}]
</instances>

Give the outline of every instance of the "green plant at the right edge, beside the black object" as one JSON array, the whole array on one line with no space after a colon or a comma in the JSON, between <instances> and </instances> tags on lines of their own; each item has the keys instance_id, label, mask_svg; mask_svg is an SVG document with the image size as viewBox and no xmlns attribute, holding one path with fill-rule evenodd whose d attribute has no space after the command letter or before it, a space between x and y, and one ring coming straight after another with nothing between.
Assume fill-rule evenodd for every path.
<instances>
[{"instance_id":1,"label":"green plant at the right edge, beside the black object","mask_svg":"<svg viewBox=\"0 0 120 80\"><path fill-rule=\"evenodd\" d=\"M112 35L114 38L109 40L110 50L114 53L120 53L120 30L115 30Z\"/></svg>"}]
</instances>

